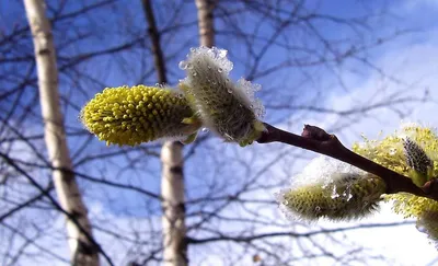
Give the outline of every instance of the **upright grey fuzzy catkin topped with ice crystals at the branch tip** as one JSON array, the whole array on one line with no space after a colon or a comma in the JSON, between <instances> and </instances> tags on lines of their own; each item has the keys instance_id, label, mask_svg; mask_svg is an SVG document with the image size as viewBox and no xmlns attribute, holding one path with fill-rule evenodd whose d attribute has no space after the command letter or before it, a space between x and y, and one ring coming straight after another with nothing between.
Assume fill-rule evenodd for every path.
<instances>
[{"instance_id":1,"label":"upright grey fuzzy catkin topped with ice crystals at the branch tip","mask_svg":"<svg viewBox=\"0 0 438 266\"><path fill-rule=\"evenodd\" d=\"M230 80L232 62L227 59L227 50L192 48L180 68L187 72L181 86L189 95L187 99L198 109L206 127L242 146L260 137L264 126L258 118L264 108L254 99L260 85L244 79L238 83Z\"/></svg>"}]
</instances>

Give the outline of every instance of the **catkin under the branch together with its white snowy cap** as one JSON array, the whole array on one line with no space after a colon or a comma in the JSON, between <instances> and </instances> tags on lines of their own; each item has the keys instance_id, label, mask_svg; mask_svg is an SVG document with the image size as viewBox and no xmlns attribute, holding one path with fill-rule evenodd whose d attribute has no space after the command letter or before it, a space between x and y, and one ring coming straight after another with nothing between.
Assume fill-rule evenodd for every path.
<instances>
[{"instance_id":1,"label":"catkin under the branch together with its white snowy cap","mask_svg":"<svg viewBox=\"0 0 438 266\"><path fill-rule=\"evenodd\" d=\"M372 213L384 190L380 177L320 157L293 178L289 189L276 194L276 199L291 219L351 220Z\"/></svg>"}]
</instances>

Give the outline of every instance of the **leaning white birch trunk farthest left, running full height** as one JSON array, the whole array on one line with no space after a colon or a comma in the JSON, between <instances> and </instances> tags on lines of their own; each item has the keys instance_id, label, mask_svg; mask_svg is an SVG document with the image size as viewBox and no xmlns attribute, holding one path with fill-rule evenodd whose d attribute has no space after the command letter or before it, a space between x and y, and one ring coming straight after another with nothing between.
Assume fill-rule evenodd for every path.
<instances>
[{"instance_id":1,"label":"leaning white birch trunk farthest left, running full height","mask_svg":"<svg viewBox=\"0 0 438 266\"><path fill-rule=\"evenodd\" d=\"M44 137L49 162L55 169L53 177L61 207L71 215L80 228L68 217L67 234L73 265L97 266L99 253L91 238L87 208L82 203L67 147L64 117L58 92L58 70L50 23L45 15L44 0L24 0L31 26L37 66L39 102L44 120Z\"/></svg>"}]
</instances>

